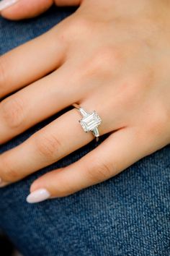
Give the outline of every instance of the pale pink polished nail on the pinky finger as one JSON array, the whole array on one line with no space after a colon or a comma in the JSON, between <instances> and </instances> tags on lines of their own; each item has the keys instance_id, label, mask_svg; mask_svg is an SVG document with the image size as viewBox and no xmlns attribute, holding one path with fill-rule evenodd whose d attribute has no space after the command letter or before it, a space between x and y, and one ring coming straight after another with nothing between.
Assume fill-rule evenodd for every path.
<instances>
[{"instance_id":1,"label":"pale pink polished nail on the pinky finger","mask_svg":"<svg viewBox=\"0 0 170 256\"><path fill-rule=\"evenodd\" d=\"M37 189L27 196L27 202L42 202L50 198L50 192L47 189Z\"/></svg>"}]
</instances>

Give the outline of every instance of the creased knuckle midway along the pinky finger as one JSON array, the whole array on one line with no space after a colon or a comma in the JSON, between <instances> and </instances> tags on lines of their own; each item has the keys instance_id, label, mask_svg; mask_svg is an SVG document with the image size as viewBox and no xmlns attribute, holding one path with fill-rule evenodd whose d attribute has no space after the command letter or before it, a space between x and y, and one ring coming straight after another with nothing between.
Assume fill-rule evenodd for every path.
<instances>
[{"instance_id":1,"label":"creased knuckle midway along the pinky finger","mask_svg":"<svg viewBox=\"0 0 170 256\"><path fill-rule=\"evenodd\" d=\"M98 163L94 161L95 164L87 168L87 175L94 182L102 182L109 179L113 174L113 168L109 163Z\"/></svg>"}]
</instances>

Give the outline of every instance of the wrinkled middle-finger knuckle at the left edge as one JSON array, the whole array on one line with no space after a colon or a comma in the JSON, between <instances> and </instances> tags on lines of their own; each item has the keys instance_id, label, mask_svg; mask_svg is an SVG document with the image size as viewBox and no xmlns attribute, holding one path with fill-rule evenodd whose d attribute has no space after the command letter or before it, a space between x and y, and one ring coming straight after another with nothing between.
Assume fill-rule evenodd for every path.
<instances>
[{"instance_id":1,"label":"wrinkled middle-finger knuckle at the left edge","mask_svg":"<svg viewBox=\"0 0 170 256\"><path fill-rule=\"evenodd\" d=\"M1 102L1 116L12 129L19 127L24 120L24 102L17 97L6 98Z\"/></svg>"}]
</instances>

